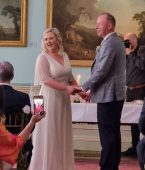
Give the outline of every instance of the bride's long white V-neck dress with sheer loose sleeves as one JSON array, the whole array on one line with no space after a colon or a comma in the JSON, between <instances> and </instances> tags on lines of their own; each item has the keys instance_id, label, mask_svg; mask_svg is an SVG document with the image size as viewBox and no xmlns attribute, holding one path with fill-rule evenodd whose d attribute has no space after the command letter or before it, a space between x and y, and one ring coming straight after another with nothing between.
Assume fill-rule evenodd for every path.
<instances>
[{"instance_id":1,"label":"bride's long white V-neck dress with sheer loose sleeves","mask_svg":"<svg viewBox=\"0 0 145 170\"><path fill-rule=\"evenodd\" d=\"M63 57L64 65L46 53L37 58L35 79L41 84L46 117L36 124L33 132L29 170L74 170L70 96L44 85L51 78L65 84L73 80L68 56L64 53Z\"/></svg>"}]
</instances>

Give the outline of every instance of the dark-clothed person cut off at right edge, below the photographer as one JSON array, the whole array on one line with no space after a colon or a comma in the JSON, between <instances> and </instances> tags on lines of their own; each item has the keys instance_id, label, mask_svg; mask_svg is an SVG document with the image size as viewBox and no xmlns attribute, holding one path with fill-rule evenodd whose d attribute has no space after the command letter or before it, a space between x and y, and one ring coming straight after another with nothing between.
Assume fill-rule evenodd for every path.
<instances>
[{"instance_id":1,"label":"dark-clothed person cut off at right edge, below the photographer","mask_svg":"<svg viewBox=\"0 0 145 170\"><path fill-rule=\"evenodd\" d=\"M144 137L137 144L137 156L141 170L145 170L145 99L139 119L139 130Z\"/></svg>"}]
</instances>

